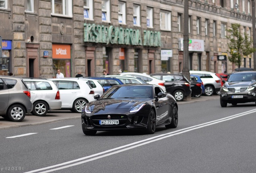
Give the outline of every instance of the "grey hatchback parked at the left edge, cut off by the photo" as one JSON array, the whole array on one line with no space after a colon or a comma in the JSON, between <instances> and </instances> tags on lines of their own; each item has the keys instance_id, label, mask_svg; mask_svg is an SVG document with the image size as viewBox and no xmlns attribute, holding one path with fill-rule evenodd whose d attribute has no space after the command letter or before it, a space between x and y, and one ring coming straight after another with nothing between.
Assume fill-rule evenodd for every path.
<instances>
[{"instance_id":1,"label":"grey hatchback parked at the left edge, cut off by the photo","mask_svg":"<svg viewBox=\"0 0 256 173\"><path fill-rule=\"evenodd\" d=\"M33 109L30 91L22 78L0 76L0 115L21 122Z\"/></svg>"}]
</instances>

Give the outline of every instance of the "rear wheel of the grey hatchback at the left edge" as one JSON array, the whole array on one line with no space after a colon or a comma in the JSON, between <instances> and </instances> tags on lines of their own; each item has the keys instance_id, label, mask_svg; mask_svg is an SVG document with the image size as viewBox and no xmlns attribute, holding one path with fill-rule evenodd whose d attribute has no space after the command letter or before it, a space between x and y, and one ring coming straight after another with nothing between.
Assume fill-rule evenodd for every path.
<instances>
[{"instance_id":1,"label":"rear wheel of the grey hatchback at the left edge","mask_svg":"<svg viewBox=\"0 0 256 173\"><path fill-rule=\"evenodd\" d=\"M10 121L14 122L21 122L26 115L26 110L23 106L21 105L12 105L9 107L6 117Z\"/></svg>"}]
</instances>

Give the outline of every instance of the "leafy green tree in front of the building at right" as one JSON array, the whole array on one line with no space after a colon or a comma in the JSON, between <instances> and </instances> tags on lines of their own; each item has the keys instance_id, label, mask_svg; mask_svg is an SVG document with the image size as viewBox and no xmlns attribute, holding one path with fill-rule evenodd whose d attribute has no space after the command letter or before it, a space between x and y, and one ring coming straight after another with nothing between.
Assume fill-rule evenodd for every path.
<instances>
[{"instance_id":1,"label":"leafy green tree in front of the building at right","mask_svg":"<svg viewBox=\"0 0 256 173\"><path fill-rule=\"evenodd\" d=\"M256 48L252 47L252 40L248 37L246 32L244 36L239 32L240 24L231 24L231 29L228 29L228 36L226 38L229 39L227 52L229 52L230 56L228 59L230 62L233 62L236 66L238 66L238 70L241 66L241 62L244 56L248 56L256 51Z\"/></svg>"}]
</instances>

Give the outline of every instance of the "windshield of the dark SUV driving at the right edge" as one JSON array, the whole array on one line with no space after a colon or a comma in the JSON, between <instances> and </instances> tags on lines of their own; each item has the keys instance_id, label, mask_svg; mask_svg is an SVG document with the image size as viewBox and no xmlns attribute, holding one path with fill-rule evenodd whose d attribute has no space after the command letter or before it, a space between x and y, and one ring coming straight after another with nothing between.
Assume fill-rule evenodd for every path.
<instances>
[{"instance_id":1,"label":"windshield of the dark SUV driving at the right edge","mask_svg":"<svg viewBox=\"0 0 256 173\"><path fill-rule=\"evenodd\" d=\"M233 73L227 79L227 82L238 82L238 81L255 81L256 73Z\"/></svg>"}]
</instances>

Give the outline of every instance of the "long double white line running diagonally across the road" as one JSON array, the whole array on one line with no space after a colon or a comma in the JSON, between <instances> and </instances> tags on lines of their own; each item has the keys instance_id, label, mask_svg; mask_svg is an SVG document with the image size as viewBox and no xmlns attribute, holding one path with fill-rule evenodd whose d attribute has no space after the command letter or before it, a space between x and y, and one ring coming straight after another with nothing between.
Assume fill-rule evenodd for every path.
<instances>
[{"instance_id":1,"label":"long double white line running diagonally across the road","mask_svg":"<svg viewBox=\"0 0 256 173\"><path fill-rule=\"evenodd\" d=\"M165 134L162 134L162 135L158 135L158 136L155 136L155 137L151 137L151 138L148 138L148 139L137 141L137 142L134 142L134 143L131 143L131 144L128 144L128 145L124 145L124 146L121 146L121 147L117 147L117 148L114 148L114 149L103 151L101 153L96 153L94 155L89 155L89 156L82 157L82 158L79 158L79 159L75 159L75 160L72 160L72 161L60 163L60 164L57 164L57 165L52 165L52 166L49 166L49 167L44 167L44 168L41 168L41 169L36 169L36 170L25 172L25 173L35 173L35 172L38 172L38 171L43 171L43 170L46 170L46 169L50 169L50 170L47 170L47 171L40 172L40 173L48 173L48 172L52 172L52 171L56 171L56 170L60 170L60 169L65 169L65 168L68 168L68 167L72 167L72 166L75 166L75 165L80 165L80 164L83 164L83 163L86 163L86 162L89 162L89 161L93 161L93 160L96 160L96 159L100 159L100 158L103 158L103 157L114 155L116 153L120 153L120 152L129 150L129 149L140 147L142 145L146 145L146 144L149 144L149 143L152 143L152 142L155 142L155 141L159 141L159 140L165 139L167 137L180 135L182 133L186 133L186 132L189 132L189 131L200 129L202 127L206 127L206 126L214 125L214 124L221 123L221 122L224 122L224 121L228 121L228 120L231 120L231 119L235 119L235 118L238 118L238 117L242 117L242 116L252 114L252 113L255 113L255 112L256 112L256 109L252 109L250 111L246 111L246 112L243 112L243 113L231 115L229 117L225 117L225 118L222 118L222 119L209 121L207 123L202 123L200 125L195 125L195 126L192 126L192 127L187 127L187 128L180 129L180 130L177 130L177 131L165 133ZM155 138L157 138L157 139L155 139ZM138 143L140 143L140 144L138 144ZM131 146L131 145L134 145L134 146ZM129 146L131 146L131 147L129 147ZM128 147L128 148L125 148L125 147ZM125 148L125 149L122 149L122 148ZM118 151L115 151L115 150L118 150ZM114 151L114 152L112 152L112 151ZM109 153L109 152L112 152L112 153ZM105 154L105 153L107 153L107 154ZM105 154L105 155L103 155L103 154ZM101 155L101 156L99 156L99 155ZM95 157L95 156L98 156L98 157ZM94 158L91 158L91 157L94 157ZM91 158L91 159L89 159L89 158ZM85 160L85 159L88 159L88 160ZM84 161L82 161L82 160L84 160ZM77 161L80 161L80 162L77 162ZM77 163L74 163L74 162L77 162ZM73 163L73 164L70 164L70 163ZM70 165L68 165L68 164L70 164ZM62 167L59 167L59 166L62 166ZM58 168L55 168L55 167L58 167ZM52 168L55 168L55 169L52 169Z\"/></svg>"}]
</instances>

